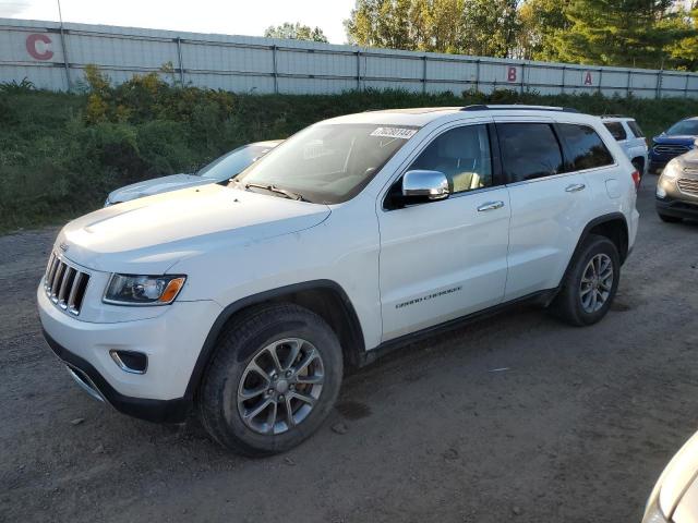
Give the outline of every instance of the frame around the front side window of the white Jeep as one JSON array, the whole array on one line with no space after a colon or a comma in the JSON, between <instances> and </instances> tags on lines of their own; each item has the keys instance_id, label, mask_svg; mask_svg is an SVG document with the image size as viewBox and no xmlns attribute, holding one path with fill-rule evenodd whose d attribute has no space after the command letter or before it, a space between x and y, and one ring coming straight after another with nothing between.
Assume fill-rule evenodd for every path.
<instances>
[{"instance_id":1,"label":"frame around the front side window of the white Jeep","mask_svg":"<svg viewBox=\"0 0 698 523\"><path fill-rule=\"evenodd\" d=\"M506 179L504 175L504 170L502 167L502 159L500 156L500 146L498 146L498 141L496 141L496 150L494 147L494 142L493 142L493 135L495 137L495 139L497 138L496 135L496 125L495 123L492 121L492 119L486 119L486 120L476 120L476 121L469 121L469 120L465 120L465 121L455 121L455 122L448 122L448 123L444 123L443 125L440 125L438 127L434 129L428 136L424 137L424 139L420 143L420 145L418 145L411 153L410 155L405 159L405 161L402 161L402 163L395 170L395 172L397 173L396 175L392 177L389 179L389 181L381 188L381 192L378 193L378 200L381 200L381 210L383 210L383 212L390 212L393 210L400 210L399 208L393 208L389 207L388 205L386 205L386 200L389 197L389 193L390 193L390 188L393 187L393 185L395 185L399 180L402 179L402 177L405 175L405 173L409 170L410 166L420 157L420 155L426 150L426 148L440 136L442 136L443 134L453 131L455 129L458 127L467 127L467 126L472 126L472 125L483 125L486 129L488 132L488 137L490 139L490 158L492 161L492 185L489 187L480 187L480 188L473 188L471 191L462 191L459 193L455 193L452 194L447 199L454 199L454 198L459 198L461 196L468 196L471 194L478 194L478 193L484 193L488 191L494 191L497 188L502 188L504 186L506 186ZM496 157L495 157L496 155ZM442 200L445 202L445 200ZM437 204L440 203L438 200L436 202L431 202L431 204ZM419 204L422 205L422 204Z\"/></svg>"}]
</instances>

